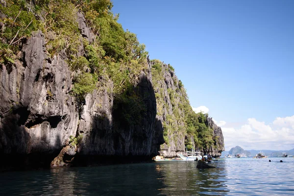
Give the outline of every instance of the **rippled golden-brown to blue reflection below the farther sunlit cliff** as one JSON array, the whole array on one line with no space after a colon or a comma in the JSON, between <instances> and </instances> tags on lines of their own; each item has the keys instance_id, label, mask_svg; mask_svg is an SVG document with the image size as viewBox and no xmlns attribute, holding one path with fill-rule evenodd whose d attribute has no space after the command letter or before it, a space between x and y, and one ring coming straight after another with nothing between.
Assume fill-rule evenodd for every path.
<instances>
[{"instance_id":1,"label":"rippled golden-brown to blue reflection below the farther sunlit cliff","mask_svg":"<svg viewBox=\"0 0 294 196\"><path fill-rule=\"evenodd\" d=\"M196 162L177 161L158 164L156 170L162 175L161 180L165 185L161 189L162 195L218 195L229 191L224 184L225 167L198 170Z\"/></svg>"}]
</instances>

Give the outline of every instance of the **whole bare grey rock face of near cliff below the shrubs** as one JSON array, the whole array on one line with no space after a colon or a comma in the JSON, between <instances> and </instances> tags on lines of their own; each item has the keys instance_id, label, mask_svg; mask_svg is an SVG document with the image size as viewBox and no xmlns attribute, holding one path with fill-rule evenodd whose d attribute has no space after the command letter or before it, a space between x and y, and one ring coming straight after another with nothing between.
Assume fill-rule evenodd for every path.
<instances>
[{"instance_id":1,"label":"whole bare grey rock face of near cliff below the shrubs","mask_svg":"<svg viewBox=\"0 0 294 196\"><path fill-rule=\"evenodd\" d=\"M83 15L78 20L82 36L91 38ZM86 96L84 105L77 105L66 53L47 57L41 31L27 39L21 53L22 61L0 67L0 156L5 160L0 166L62 167L73 161L71 156L76 164L87 164L85 157L99 161L105 156L140 161L158 153L163 127L156 119L150 64L132 87L146 110L138 122L126 123L120 103L113 107L119 95L111 92L107 78ZM83 135L76 151L70 150L71 135Z\"/></svg>"}]
</instances>

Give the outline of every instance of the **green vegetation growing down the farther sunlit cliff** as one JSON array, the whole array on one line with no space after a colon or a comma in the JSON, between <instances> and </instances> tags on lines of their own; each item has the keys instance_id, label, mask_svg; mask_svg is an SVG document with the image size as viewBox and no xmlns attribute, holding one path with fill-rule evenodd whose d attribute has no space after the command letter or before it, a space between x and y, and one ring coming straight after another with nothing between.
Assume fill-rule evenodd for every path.
<instances>
[{"instance_id":1,"label":"green vegetation growing down the farther sunlit cliff","mask_svg":"<svg viewBox=\"0 0 294 196\"><path fill-rule=\"evenodd\" d=\"M157 115L164 120L166 145L169 146L170 140L176 144L178 137L184 137L188 149L214 147L217 138L213 138L213 130L208 125L208 114L196 114L192 110L186 90L174 75L171 65L165 65L159 60L153 60L151 63ZM165 87L165 80L173 84ZM169 111L169 108L172 108L172 111Z\"/></svg>"}]
</instances>

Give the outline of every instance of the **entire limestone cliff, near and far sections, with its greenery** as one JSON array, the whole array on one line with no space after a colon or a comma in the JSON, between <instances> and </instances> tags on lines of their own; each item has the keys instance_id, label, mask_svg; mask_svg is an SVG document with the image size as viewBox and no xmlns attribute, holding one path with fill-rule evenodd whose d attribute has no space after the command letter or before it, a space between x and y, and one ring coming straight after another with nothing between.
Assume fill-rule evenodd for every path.
<instances>
[{"instance_id":1,"label":"entire limestone cliff, near and far sections, with its greenery","mask_svg":"<svg viewBox=\"0 0 294 196\"><path fill-rule=\"evenodd\" d=\"M221 128L192 111L173 68L148 59L111 1L56 2L1 1L0 166L220 155Z\"/></svg>"}]
</instances>

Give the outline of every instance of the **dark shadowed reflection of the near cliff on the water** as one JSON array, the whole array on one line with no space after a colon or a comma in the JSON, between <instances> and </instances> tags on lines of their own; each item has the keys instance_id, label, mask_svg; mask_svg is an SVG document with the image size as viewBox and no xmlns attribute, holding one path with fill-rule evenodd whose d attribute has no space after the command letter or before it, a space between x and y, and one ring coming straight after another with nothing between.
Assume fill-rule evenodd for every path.
<instances>
[{"instance_id":1,"label":"dark shadowed reflection of the near cliff on the water","mask_svg":"<svg viewBox=\"0 0 294 196\"><path fill-rule=\"evenodd\" d=\"M129 164L0 173L0 195L158 195L156 165Z\"/></svg>"}]
</instances>

